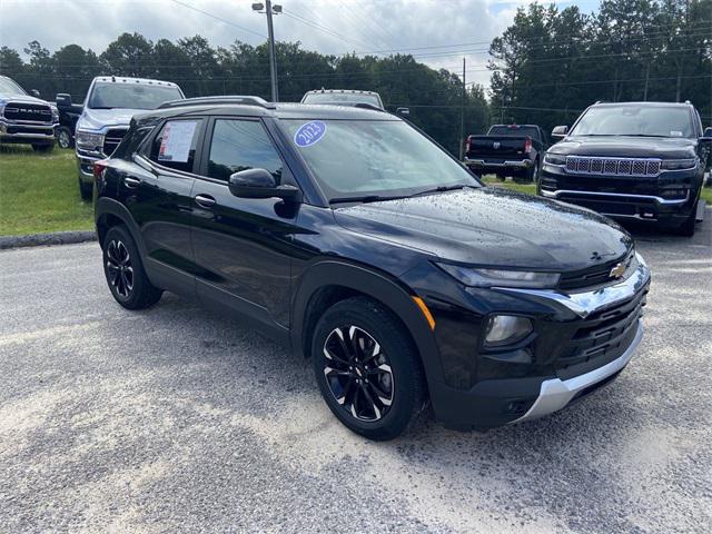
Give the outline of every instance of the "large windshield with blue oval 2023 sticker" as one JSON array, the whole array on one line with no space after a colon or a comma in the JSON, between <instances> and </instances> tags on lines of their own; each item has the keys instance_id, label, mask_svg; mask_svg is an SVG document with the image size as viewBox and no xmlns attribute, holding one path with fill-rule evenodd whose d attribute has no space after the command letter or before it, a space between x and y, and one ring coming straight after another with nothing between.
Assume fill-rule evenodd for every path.
<instances>
[{"instance_id":1,"label":"large windshield with blue oval 2023 sticker","mask_svg":"<svg viewBox=\"0 0 712 534\"><path fill-rule=\"evenodd\" d=\"M281 122L329 199L479 186L461 164L400 120Z\"/></svg>"}]
</instances>

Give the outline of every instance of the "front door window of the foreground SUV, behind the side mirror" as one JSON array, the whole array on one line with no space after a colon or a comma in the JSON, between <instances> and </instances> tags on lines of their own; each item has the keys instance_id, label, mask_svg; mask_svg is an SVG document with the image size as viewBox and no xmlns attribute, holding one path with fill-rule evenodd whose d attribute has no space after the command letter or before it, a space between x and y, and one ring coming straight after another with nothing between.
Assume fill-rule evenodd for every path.
<instances>
[{"instance_id":1,"label":"front door window of the foreground SUV, behind the side mirror","mask_svg":"<svg viewBox=\"0 0 712 534\"><path fill-rule=\"evenodd\" d=\"M261 122L217 119L208 160L208 176L227 181L240 170L261 168L281 182L283 162Z\"/></svg>"}]
</instances>

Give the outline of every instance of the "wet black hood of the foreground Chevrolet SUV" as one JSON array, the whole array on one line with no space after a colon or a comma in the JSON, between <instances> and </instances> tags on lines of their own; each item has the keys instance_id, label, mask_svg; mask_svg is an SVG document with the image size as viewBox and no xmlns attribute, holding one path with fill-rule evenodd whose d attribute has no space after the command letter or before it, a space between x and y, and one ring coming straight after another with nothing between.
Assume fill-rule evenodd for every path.
<instances>
[{"instance_id":1,"label":"wet black hood of the foreground Chevrolet SUV","mask_svg":"<svg viewBox=\"0 0 712 534\"><path fill-rule=\"evenodd\" d=\"M577 270L633 246L594 211L491 187L344 207L335 217L353 231L482 266Z\"/></svg>"}]
</instances>

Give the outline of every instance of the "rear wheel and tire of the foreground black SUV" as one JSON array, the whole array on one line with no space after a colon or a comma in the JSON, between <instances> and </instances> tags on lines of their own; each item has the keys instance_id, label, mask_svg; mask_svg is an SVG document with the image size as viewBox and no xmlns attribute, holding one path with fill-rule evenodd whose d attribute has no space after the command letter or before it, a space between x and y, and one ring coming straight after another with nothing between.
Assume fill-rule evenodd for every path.
<instances>
[{"instance_id":1,"label":"rear wheel and tire of the foreground black SUV","mask_svg":"<svg viewBox=\"0 0 712 534\"><path fill-rule=\"evenodd\" d=\"M138 247L125 226L109 228L101 249L103 274L117 303L127 309L144 309L160 300L162 290L146 276Z\"/></svg>"}]
</instances>

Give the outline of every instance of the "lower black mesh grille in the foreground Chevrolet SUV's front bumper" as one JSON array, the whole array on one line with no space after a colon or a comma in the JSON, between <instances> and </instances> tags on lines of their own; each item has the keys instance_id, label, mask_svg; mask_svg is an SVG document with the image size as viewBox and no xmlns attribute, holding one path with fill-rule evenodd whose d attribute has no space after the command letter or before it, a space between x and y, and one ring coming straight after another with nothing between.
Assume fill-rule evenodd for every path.
<instances>
[{"instance_id":1,"label":"lower black mesh grille in the foreground Chevrolet SUV's front bumper","mask_svg":"<svg viewBox=\"0 0 712 534\"><path fill-rule=\"evenodd\" d=\"M585 364L601 366L621 356L635 337L646 295L647 289L586 318L574 333L570 348L557 358L557 370Z\"/></svg>"}]
</instances>

